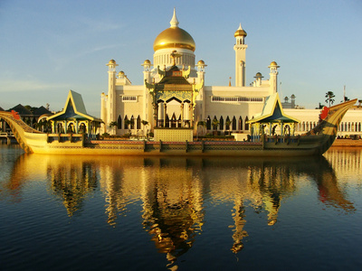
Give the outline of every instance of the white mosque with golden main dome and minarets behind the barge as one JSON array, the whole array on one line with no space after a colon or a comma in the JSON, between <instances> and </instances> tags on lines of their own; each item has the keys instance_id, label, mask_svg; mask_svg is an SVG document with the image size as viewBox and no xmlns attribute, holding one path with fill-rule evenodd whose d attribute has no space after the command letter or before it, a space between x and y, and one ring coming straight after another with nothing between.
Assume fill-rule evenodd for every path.
<instances>
[{"instance_id":1,"label":"white mosque with golden main dome and minarets behind the barge","mask_svg":"<svg viewBox=\"0 0 362 271\"><path fill-rule=\"evenodd\" d=\"M248 45L247 33L240 24L233 34L233 86L231 82L228 86L207 86L207 65L203 60L195 61L195 41L178 24L174 9L170 27L159 33L153 43L153 64L149 60L141 64L143 85L132 85L122 70L117 72L117 62L109 61L108 94L102 93L100 100L100 118L104 122L100 134L145 135L156 130L173 130L178 135L189 130L191 135L197 135L200 127L204 132L218 135L250 132L248 120L262 112L265 98L277 93L280 66L271 61L269 79L257 72L252 83L245 85ZM290 116L302 118L295 128L296 134L317 125L319 110L315 111L306 115L304 110L288 109ZM351 123L361 134L360 121L351 120ZM341 131L350 133L346 123L341 126ZM185 138L187 140L187 137L179 139Z\"/></svg>"}]
</instances>

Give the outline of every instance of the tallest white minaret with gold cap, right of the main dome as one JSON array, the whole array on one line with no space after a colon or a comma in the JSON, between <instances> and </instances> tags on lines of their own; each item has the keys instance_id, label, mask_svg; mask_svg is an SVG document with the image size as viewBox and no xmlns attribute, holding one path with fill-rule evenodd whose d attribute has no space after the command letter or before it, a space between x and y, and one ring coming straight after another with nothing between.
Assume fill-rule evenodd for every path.
<instances>
[{"instance_id":1,"label":"tallest white minaret with gold cap, right of the main dome","mask_svg":"<svg viewBox=\"0 0 362 271\"><path fill-rule=\"evenodd\" d=\"M245 44L246 32L242 28L242 23L240 23L239 28L233 34L236 39L235 45L233 45L233 50L235 51L235 86L244 87L245 86L245 51L248 48L248 45Z\"/></svg>"}]
</instances>

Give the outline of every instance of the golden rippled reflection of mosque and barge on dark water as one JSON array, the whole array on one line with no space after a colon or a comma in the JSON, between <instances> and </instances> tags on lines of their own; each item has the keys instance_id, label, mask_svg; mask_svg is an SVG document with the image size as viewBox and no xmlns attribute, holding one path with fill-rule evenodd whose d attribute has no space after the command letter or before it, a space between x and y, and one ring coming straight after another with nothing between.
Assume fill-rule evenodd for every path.
<instances>
[{"instance_id":1,"label":"golden rippled reflection of mosque and barge on dark water","mask_svg":"<svg viewBox=\"0 0 362 271\"><path fill-rule=\"evenodd\" d=\"M360 171L360 164L351 166ZM130 202L141 201L143 228L170 262L185 254L202 234L207 222L206 199L232 202L233 253L243 249L243 238L248 236L244 230L246 204L265 214L265 223L273 227L281 200L300 189L297 178L317 186L321 202L354 211L324 156L276 161L23 154L7 183L14 199L21 197L22 182L34 168L37 174L46 176L50 192L62 200L70 217L81 213L83 201L97 190L105 197L107 222L112 227L117 227L119 216L127 212ZM346 164L344 169L348 170Z\"/></svg>"}]
</instances>

